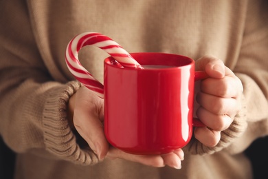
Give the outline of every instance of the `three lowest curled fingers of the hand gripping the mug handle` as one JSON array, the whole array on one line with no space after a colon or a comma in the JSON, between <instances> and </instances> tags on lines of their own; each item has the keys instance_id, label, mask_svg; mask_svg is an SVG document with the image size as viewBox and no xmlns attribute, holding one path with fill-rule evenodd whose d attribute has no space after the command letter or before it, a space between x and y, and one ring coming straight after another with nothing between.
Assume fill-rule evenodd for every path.
<instances>
[{"instance_id":1,"label":"three lowest curled fingers of the hand gripping the mug handle","mask_svg":"<svg viewBox=\"0 0 268 179\"><path fill-rule=\"evenodd\" d=\"M203 145L214 147L221 139L221 131L230 127L240 105L235 98L222 98L200 92L197 116L207 127L196 127L194 136Z\"/></svg>"}]
</instances>

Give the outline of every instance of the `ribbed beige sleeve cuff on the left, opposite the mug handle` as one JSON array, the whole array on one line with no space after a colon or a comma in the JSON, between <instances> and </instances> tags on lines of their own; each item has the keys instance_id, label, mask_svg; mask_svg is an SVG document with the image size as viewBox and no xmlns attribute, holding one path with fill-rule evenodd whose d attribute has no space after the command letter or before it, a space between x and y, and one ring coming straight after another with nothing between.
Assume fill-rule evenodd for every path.
<instances>
[{"instance_id":1,"label":"ribbed beige sleeve cuff on the left, opposite the mug handle","mask_svg":"<svg viewBox=\"0 0 268 179\"><path fill-rule=\"evenodd\" d=\"M43 111L44 140L47 151L60 159L80 165L93 165L98 157L90 150L82 150L67 120L69 98L81 87L72 81L50 89Z\"/></svg>"}]
</instances>

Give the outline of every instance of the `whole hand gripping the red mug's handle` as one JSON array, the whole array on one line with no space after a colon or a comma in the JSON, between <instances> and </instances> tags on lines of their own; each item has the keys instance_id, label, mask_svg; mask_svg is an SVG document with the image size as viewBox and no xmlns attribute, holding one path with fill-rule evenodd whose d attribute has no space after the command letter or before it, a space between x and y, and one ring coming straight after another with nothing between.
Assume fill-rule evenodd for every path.
<instances>
[{"instance_id":1,"label":"whole hand gripping the red mug's handle","mask_svg":"<svg viewBox=\"0 0 268 179\"><path fill-rule=\"evenodd\" d=\"M212 56L197 60L196 70L205 71L210 77L201 81L197 93L197 117L207 127L196 127L194 136L203 145L214 147L221 131L230 127L241 108L243 85L232 70Z\"/></svg>"}]
</instances>

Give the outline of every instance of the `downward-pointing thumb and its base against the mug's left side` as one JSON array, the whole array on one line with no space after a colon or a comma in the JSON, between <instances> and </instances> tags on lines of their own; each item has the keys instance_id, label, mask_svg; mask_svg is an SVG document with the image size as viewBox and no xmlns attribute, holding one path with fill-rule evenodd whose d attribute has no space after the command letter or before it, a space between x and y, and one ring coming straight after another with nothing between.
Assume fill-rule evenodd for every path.
<instances>
[{"instance_id":1,"label":"downward-pointing thumb and its base against the mug's left side","mask_svg":"<svg viewBox=\"0 0 268 179\"><path fill-rule=\"evenodd\" d=\"M101 98L85 87L76 92L74 127L100 160L106 156L109 149L102 125L103 113Z\"/></svg>"}]
</instances>

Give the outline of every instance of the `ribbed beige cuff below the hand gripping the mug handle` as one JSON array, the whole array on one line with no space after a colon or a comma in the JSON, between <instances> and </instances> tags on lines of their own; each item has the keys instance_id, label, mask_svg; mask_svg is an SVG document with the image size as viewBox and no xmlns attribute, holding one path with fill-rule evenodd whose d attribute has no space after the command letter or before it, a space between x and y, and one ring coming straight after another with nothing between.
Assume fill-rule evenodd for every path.
<instances>
[{"instance_id":1,"label":"ribbed beige cuff below the hand gripping the mug handle","mask_svg":"<svg viewBox=\"0 0 268 179\"><path fill-rule=\"evenodd\" d=\"M225 131L221 131L221 140L215 147L207 147L192 137L192 140L185 148L186 151L190 154L213 154L231 145L247 129L246 110L245 98L243 96L241 111L234 117L232 125Z\"/></svg>"}]
</instances>

